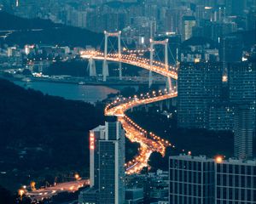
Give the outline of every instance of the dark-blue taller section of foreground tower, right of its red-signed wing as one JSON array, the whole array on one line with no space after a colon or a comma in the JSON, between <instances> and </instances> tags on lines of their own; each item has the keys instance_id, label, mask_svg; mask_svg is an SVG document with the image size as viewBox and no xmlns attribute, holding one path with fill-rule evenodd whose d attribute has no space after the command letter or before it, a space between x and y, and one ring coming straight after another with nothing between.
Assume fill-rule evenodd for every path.
<instances>
[{"instance_id":1,"label":"dark-blue taller section of foreground tower, right of its red-signed wing","mask_svg":"<svg viewBox=\"0 0 256 204\"><path fill-rule=\"evenodd\" d=\"M106 122L105 139L99 140L100 203L125 201L125 136L120 122Z\"/></svg>"}]
</instances>

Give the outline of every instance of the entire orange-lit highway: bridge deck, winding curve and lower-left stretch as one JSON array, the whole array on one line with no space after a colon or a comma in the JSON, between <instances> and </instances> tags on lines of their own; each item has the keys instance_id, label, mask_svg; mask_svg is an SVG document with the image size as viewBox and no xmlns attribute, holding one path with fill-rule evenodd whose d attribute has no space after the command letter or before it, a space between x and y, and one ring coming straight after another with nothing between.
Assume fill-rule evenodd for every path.
<instances>
[{"instance_id":1,"label":"entire orange-lit highway: bridge deck, winding curve and lower-left stretch","mask_svg":"<svg viewBox=\"0 0 256 204\"><path fill-rule=\"evenodd\" d=\"M106 60L104 54L96 51L84 51L81 53L81 57L84 59ZM177 79L176 68L172 66L166 67L165 64L157 61L153 61L150 65L149 59L139 58L133 54L108 54L107 60L136 65L148 71L154 71L164 77ZM139 105L147 105L165 99L172 99L174 97L177 97L176 91L165 89L164 91L153 91L152 93L140 94L139 96L135 95L134 97L129 98L117 98L111 104L106 106L105 115L117 116L119 122L122 123L122 126L125 129L126 137L130 139L131 142L140 144L137 156L125 164L127 174L140 173L143 170L143 167L148 167L148 159L152 152L156 151L159 152L161 156L165 156L166 147L172 146L172 144L165 139L161 139L154 133L148 133L145 129L139 127L136 122L131 120L131 118L125 116L125 111ZM76 180L30 192L21 189L19 190L19 195L22 196L23 194L26 194L32 201L40 201L44 200L44 198L50 198L53 195L57 195L60 192L75 192L84 185L89 184L89 180Z\"/></svg>"}]
</instances>

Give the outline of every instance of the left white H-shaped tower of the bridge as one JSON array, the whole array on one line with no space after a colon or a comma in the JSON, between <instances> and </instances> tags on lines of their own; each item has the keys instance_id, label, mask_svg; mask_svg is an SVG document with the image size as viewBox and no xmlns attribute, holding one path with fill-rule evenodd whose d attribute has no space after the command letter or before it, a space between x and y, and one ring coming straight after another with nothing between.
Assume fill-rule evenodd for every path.
<instances>
[{"instance_id":1,"label":"left white H-shaped tower of the bridge","mask_svg":"<svg viewBox=\"0 0 256 204\"><path fill-rule=\"evenodd\" d=\"M105 34L105 45L104 45L104 60L103 60L103 67L102 67L102 75L103 81L106 82L107 77L109 76L108 73L108 37L118 37L118 56L121 58L121 31L117 32L108 32L104 31ZM122 80L122 63L119 62L119 79Z\"/></svg>"}]
</instances>

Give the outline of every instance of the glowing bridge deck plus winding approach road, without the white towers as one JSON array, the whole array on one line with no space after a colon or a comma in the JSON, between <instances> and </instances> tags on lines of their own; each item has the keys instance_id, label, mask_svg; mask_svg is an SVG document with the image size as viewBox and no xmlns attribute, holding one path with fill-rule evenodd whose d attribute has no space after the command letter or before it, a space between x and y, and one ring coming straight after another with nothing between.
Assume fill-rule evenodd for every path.
<instances>
[{"instance_id":1,"label":"glowing bridge deck plus winding approach road, without the white towers","mask_svg":"<svg viewBox=\"0 0 256 204\"><path fill-rule=\"evenodd\" d=\"M153 61L150 65L149 59L137 57L133 54L108 54L104 57L104 54L98 51L87 50L81 53L81 58L84 59L96 59L107 60L113 62L122 62L129 65L136 65L148 71L154 71L164 77L169 77L177 80L177 68L168 66L165 64ZM119 122L122 123L125 129L125 135L131 142L137 142L140 144L138 155L132 161L125 164L126 173L140 173L143 167L148 167L148 159L152 152L159 152L162 156L166 154L166 147L172 146L167 140L161 139L154 133L148 133L142 127L139 127L137 123L131 121L131 118L125 116L125 111L136 107L138 105L146 105L154 102L158 102L165 99L172 99L177 97L177 92L171 90L163 93L162 91L153 92L152 94L142 94L139 97L116 99L113 103L106 106L106 116L118 116Z\"/></svg>"}]
</instances>

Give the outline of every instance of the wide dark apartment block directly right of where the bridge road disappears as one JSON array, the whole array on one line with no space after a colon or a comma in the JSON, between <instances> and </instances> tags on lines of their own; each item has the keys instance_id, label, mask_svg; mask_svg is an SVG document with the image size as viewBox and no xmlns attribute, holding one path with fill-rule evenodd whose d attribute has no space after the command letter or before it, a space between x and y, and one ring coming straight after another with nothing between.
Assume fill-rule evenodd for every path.
<instances>
[{"instance_id":1,"label":"wide dark apartment block directly right of where the bridge road disappears","mask_svg":"<svg viewBox=\"0 0 256 204\"><path fill-rule=\"evenodd\" d=\"M182 63L177 80L177 125L207 127L207 109L221 94L220 63Z\"/></svg>"}]
</instances>

